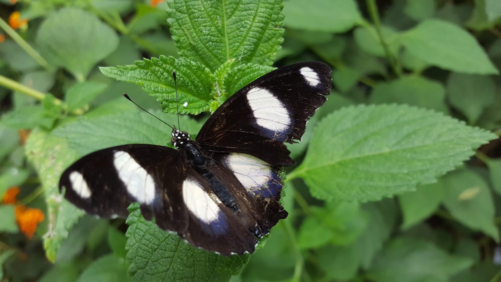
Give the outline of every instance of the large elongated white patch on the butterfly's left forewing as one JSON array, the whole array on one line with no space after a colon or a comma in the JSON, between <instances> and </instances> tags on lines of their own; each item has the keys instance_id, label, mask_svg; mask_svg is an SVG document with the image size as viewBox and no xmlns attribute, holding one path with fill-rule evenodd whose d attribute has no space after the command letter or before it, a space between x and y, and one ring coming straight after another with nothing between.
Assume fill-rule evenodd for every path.
<instances>
[{"instance_id":1,"label":"large elongated white patch on the butterfly's left forewing","mask_svg":"<svg viewBox=\"0 0 501 282\"><path fill-rule=\"evenodd\" d=\"M127 192L138 202L151 204L155 199L155 181L153 178L129 153L117 151L113 158L118 177L127 187Z\"/></svg>"}]
</instances>

